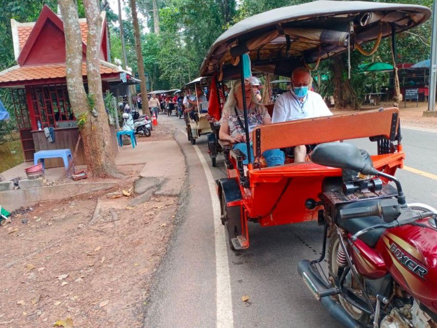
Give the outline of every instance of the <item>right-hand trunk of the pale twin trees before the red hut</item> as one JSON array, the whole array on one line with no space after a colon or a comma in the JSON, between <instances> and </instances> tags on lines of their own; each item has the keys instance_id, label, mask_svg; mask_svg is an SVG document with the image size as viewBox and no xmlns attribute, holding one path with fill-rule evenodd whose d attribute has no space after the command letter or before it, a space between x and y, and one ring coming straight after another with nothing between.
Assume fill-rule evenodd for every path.
<instances>
[{"instance_id":1,"label":"right-hand trunk of the pale twin trees before the red hut","mask_svg":"<svg viewBox=\"0 0 437 328\"><path fill-rule=\"evenodd\" d=\"M90 158L88 171L94 176L118 176L115 154L109 129L108 115L103 102L100 75L100 36L102 19L98 0L84 0L87 15L87 79L88 105L87 123L84 127L85 157ZM92 101L90 100L92 99ZM91 103L94 103L91 105Z\"/></svg>"}]
</instances>

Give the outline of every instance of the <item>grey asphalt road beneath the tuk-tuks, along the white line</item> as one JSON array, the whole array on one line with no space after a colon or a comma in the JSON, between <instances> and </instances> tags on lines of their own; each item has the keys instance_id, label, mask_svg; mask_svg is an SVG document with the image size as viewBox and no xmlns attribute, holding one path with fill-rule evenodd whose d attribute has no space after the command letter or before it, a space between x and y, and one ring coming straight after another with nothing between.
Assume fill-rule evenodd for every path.
<instances>
[{"instance_id":1,"label":"grey asphalt road beneath the tuk-tuks, along the white line","mask_svg":"<svg viewBox=\"0 0 437 328\"><path fill-rule=\"evenodd\" d=\"M170 119L178 130L184 130L182 119L162 119ZM216 240L221 241L224 234L215 232L214 220L218 217L213 217L205 165L182 132L175 136L188 165L187 191L182 195L179 224L169 252L157 271L144 326L231 328L229 320L217 321L231 315L235 328L337 327L338 323L307 291L296 269L300 259L313 259L319 254L321 228L314 222L270 228L251 224L248 250L220 253L221 245ZM436 133L404 129L406 165L437 174L435 140ZM352 142L364 148L376 147L367 140ZM211 167L205 136L197 140L197 147L213 178L225 177L223 157L217 158L217 168ZM436 180L407 171L399 172L398 177L408 201L437 205ZM227 265L223 265L223 258L227 258ZM217 279L224 291L227 288L223 269L228 272L230 297L217 293ZM242 302L243 295L248 295L249 301Z\"/></svg>"}]
</instances>

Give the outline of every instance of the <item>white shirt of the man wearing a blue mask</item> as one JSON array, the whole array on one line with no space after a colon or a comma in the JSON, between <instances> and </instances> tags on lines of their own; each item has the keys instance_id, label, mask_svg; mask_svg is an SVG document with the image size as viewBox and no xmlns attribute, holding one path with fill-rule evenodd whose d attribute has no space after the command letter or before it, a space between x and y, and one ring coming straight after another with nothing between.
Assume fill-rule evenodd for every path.
<instances>
[{"instance_id":1,"label":"white shirt of the man wearing a blue mask","mask_svg":"<svg viewBox=\"0 0 437 328\"><path fill-rule=\"evenodd\" d=\"M320 94L308 90L306 96L299 100L293 90L281 94L276 99L272 122L285 122L301 118L330 116L331 111Z\"/></svg>"}]
</instances>

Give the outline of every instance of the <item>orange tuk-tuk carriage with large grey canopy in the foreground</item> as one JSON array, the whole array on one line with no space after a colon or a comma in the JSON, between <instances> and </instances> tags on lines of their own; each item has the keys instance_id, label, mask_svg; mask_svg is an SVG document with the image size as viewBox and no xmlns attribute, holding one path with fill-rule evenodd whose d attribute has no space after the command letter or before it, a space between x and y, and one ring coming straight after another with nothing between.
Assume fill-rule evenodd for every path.
<instances>
[{"instance_id":1,"label":"orange tuk-tuk carriage with large grey canopy in the foreground","mask_svg":"<svg viewBox=\"0 0 437 328\"><path fill-rule=\"evenodd\" d=\"M247 71L243 66L247 63L244 54L251 59L252 72L290 76L296 67L317 67L321 60L342 52L359 48L365 53L361 46L371 40L376 40L373 47L376 50L383 37L392 37L394 49L396 33L418 26L428 18L429 10L424 8L315 1L270 10L243 19L220 35L206 54L200 74L220 83L227 72L234 72L244 85L243 72ZM268 227L323 219L319 195L332 183L342 181L340 169L311 161L294 163L291 159L281 166L265 167L262 154L266 150L366 137L377 146L377 153L371 155L376 169L394 175L403 166L405 154L398 108L258 126L252 132L251 144L244 88L242 93L247 153L252 148L255 160L248 156L245 168L245 155L219 140L228 177L216 181L221 221L233 250L249 247L248 221ZM194 133L198 136L197 132L191 133L192 139ZM387 180L382 180L385 185Z\"/></svg>"}]
</instances>

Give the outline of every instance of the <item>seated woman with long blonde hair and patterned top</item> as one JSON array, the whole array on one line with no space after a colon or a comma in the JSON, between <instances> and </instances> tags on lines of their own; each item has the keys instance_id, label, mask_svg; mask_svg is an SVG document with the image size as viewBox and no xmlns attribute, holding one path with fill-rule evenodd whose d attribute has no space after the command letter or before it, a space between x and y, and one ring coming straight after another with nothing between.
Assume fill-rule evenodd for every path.
<instances>
[{"instance_id":1,"label":"seated woman with long blonde hair and patterned top","mask_svg":"<svg viewBox=\"0 0 437 328\"><path fill-rule=\"evenodd\" d=\"M251 78L246 79L244 83L246 93L247 108L247 125L249 135L259 125L272 124L272 118L268 115L267 109L258 103L254 92L252 91ZM238 149L246 155L246 134L244 130L244 113L243 113L243 93L241 81L237 80L233 84L223 107L220 119L219 137L221 140L229 141L233 144L233 149ZM251 148L251 158L254 161L254 155ZM267 150L263 153L267 166L282 165L285 160L284 153L279 149ZM247 159L243 164L247 165Z\"/></svg>"}]
</instances>

